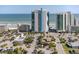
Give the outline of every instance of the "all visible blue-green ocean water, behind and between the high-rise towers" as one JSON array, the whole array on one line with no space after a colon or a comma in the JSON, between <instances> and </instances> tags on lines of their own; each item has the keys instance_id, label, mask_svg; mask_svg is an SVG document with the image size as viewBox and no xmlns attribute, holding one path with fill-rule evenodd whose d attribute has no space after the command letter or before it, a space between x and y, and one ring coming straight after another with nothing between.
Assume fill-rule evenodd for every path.
<instances>
[{"instance_id":1,"label":"all visible blue-green ocean water, behind and between the high-rise towers","mask_svg":"<svg viewBox=\"0 0 79 59\"><path fill-rule=\"evenodd\" d=\"M75 15L79 19L79 14ZM49 24L56 24L56 14L49 14ZM0 14L0 24L31 24L31 14Z\"/></svg>"}]
</instances>

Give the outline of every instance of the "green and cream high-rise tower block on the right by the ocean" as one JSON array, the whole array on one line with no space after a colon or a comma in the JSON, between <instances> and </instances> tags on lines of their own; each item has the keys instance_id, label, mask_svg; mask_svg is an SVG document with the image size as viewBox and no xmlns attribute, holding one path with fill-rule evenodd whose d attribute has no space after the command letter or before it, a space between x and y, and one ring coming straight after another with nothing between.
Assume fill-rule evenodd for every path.
<instances>
[{"instance_id":1,"label":"green and cream high-rise tower block on the right by the ocean","mask_svg":"<svg viewBox=\"0 0 79 59\"><path fill-rule=\"evenodd\" d=\"M74 16L70 12L58 13L57 14L57 30L61 31L70 31L70 27L75 25Z\"/></svg>"}]
</instances>

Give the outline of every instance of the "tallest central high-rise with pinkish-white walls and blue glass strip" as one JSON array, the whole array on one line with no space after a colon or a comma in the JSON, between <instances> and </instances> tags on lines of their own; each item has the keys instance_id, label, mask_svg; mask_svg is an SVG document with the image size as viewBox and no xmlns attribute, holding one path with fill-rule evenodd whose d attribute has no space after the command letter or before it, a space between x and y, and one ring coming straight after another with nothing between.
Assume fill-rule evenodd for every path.
<instances>
[{"instance_id":1,"label":"tallest central high-rise with pinkish-white walls and blue glass strip","mask_svg":"<svg viewBox=\"0 0 79 59\"><path fill-rule=\"evenodd\" d=\"M45 10L35 10L32 12L32 31L48 32L49 30L49 12Z\"/></svg>"}]
</instances>

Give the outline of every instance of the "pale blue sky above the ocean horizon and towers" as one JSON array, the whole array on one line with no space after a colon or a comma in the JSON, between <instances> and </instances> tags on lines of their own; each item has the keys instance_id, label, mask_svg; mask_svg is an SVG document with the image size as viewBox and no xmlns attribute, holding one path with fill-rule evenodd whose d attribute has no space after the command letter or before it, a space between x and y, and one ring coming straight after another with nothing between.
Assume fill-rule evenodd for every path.
<instances>
[{"instance_id":1,"label":"pale blue sky above the ocean horizon and towers","mask_svg":"<svg viewBox=\"0 0 79 59\"><path fill-rule=\"evenodd\" d=\"M26 14L40 8L50 13L70 11L79 14L79 5L0 5L0 14Z\"/></svg>"}]
</instances>

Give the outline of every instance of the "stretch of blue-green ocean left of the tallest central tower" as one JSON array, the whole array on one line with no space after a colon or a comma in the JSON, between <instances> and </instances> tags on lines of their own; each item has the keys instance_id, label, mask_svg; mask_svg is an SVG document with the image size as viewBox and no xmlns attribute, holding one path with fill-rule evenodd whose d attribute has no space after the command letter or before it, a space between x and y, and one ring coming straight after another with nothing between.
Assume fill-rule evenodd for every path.
<instances>
[{"instance_id":1,"label":"stretch of blue-green ocean left of the tallest central tower","mask_svg":"<svg viewBox=\"0 0 79 59\"><path fill-rule=\"evenodd\" d=\"M0 14L0 23L31 23L31 14Z\"/></svg>"}]
</instances>

